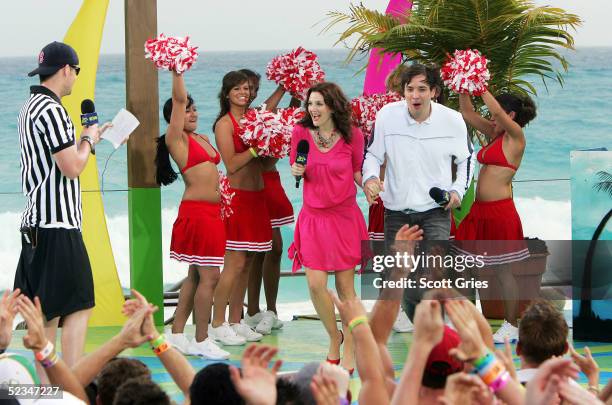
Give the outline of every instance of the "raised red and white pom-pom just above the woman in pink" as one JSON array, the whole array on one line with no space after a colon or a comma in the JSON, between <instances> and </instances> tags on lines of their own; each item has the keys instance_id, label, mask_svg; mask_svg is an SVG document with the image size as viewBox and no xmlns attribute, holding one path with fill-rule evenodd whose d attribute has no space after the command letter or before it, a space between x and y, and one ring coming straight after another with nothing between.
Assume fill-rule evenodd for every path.
<instances>
[{"instance_id":1,"label":"raised red and white pom-pom just above the woman in pink","mask_svg":"<svg viewBox=\"0 0 612 405\"><path fill-rule=\"evenodd\" d=\"M309 88L325 80L317 55L301 46L272 59L266 67L266 76L300 100L306 98Z\"/></svg>"}]
</instances>

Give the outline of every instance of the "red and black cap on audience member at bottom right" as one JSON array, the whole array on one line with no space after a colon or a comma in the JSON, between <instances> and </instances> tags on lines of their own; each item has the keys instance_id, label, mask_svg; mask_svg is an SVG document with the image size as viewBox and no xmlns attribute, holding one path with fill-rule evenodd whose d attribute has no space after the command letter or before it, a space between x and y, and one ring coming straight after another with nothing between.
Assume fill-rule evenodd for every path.
<instances>
[{"instance_id":1,"label":"red and black cap on audience member at bottom right","mask_svg":"<svg viewBox=\"0 0 612 405\"><path fill-rule=\"evenodd\" d=\"M442 341L434 346L427 358L423 385L430 388L442 388L446 383L446 377L463 370L463 362L448 354L449 350L459 346L460 343L461 338L457 332L444 325Z\"/></svg>"}]
</instances>

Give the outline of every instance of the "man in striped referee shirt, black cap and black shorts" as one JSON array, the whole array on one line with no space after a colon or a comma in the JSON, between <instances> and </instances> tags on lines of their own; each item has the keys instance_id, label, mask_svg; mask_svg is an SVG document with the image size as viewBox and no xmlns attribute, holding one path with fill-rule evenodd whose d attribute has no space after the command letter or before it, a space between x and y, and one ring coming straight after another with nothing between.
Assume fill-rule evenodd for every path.
<instances>
[{"instance_id":1,"label":"man in striped referee shirt, black cap and black shorts","mask_svg":"<svg viewBox=\"0 0 612 405\"><path fill-rule=\"evenodd\" d=\"M84 128L80 140L61 98L71 93L79 74L73 48L52 42L38 57L40 85L18 119L21 181L26 207L21 218L21 256L14 288L38 296L45 332L55 343L63 318L62 355L72 366L81 357L87 321L94 307L93 277L81 235L79 175L100 139L97 125Z\"/></svg>"}]
</instances>

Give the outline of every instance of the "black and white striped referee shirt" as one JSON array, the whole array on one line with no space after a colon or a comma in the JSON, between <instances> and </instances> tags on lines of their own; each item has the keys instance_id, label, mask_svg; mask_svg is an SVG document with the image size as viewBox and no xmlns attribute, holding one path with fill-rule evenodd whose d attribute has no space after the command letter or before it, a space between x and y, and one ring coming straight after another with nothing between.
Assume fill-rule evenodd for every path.
<instances>
[{"instance_id":1,"label":"black and white striped referee shirt","mask_svg":"<svg viewBox=\"0 0 612 405\"><path fill-rule=\"evenodd\" d=\"M21 184L27 198L21 226L81 229L81 185L60 171L53 154L75 145L74 124L59 97L32 86L19 112Z\"/></svg>"}]
</instances>

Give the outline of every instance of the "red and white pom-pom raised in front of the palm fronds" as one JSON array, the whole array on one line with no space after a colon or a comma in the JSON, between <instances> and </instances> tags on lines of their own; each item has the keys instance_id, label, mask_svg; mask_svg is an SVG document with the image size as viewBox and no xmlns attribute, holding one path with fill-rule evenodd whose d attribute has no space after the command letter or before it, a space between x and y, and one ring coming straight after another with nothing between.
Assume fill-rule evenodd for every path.
<instances>
[{"instance_id":1,"label":"red and white pom-pom raised in front of the palm fronds","mask_svg":"<svg viewBox=\"0 0 612 405\"><path fill-rule=\"evenodd\" d=\"M480 96L487 91L491 78L488 62L477 49L456 50L454 56L442 66L442 80L455 93Z\"/></svg>"}]
</instances>

